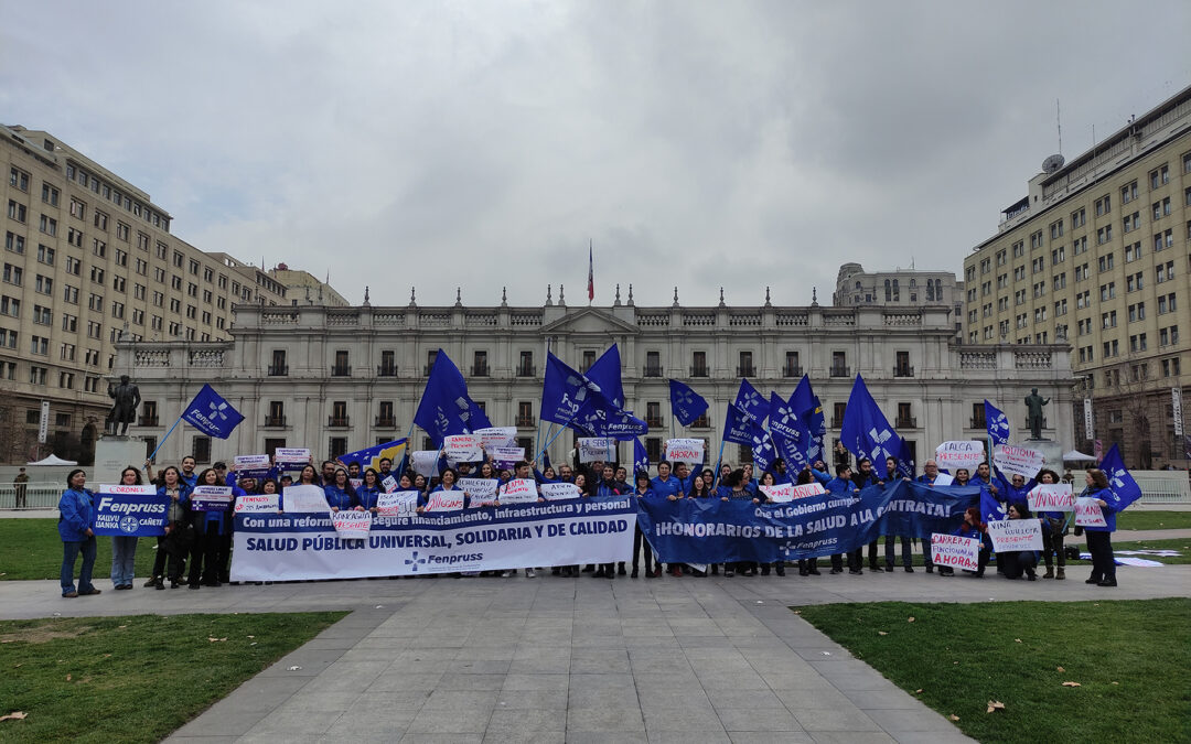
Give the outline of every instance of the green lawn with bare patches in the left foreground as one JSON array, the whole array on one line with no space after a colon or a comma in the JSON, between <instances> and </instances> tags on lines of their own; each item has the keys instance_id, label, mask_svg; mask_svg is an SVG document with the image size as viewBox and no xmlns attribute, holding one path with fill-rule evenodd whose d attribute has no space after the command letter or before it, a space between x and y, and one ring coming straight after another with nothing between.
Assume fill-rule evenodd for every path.
<instances>
[{"instance_id":1,"label":"green lawn with bare patches in the left foreground","mask_svg":"<svg viewBox=\"0 0 1191 744\"><path fill-rule=\"evenodd\" d=\"M0 740L161 740L345 614L0 621Z\"/></svg>"}]
</instances>

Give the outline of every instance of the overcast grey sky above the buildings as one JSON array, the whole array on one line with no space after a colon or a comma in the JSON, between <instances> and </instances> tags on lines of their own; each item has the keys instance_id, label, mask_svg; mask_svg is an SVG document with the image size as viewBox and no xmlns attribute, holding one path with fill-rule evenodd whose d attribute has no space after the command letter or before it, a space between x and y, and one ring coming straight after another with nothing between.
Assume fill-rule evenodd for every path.
<instances>
[{"instance_id":1,"label":"overcast grey sky above the buildings","mask_svg":"<svg viewBox=\"0 0 1191 744\"><path fill-rule=\"evenodd\" d=\"M959 273L1042 160L1191 83L1191 4L15 2L0 121L349 301L830 301ZM626 299L626 298L625 298Z\"/></svg>"}]
</instances>

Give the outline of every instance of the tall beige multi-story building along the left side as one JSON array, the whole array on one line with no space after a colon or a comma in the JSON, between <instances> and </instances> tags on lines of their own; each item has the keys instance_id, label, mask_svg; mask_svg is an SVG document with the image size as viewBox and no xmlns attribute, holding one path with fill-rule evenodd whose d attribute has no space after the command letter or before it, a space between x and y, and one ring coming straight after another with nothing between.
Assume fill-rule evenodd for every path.
<instances>
[{"instance_id":1,"label":"tall beige multi-story building along the left side","mask_svg":"<svg viewBox=\"0 0 1191 744\"><path fill-rule=\"evenodd\" d=\"M52 135L0 135L0 462L37 455L42 401L50 418L40 454L86 456L110 408L121 333L225 339L235 304L283 304L285 289L179 239L149 194Z\"/></svg>"}]
</instances>

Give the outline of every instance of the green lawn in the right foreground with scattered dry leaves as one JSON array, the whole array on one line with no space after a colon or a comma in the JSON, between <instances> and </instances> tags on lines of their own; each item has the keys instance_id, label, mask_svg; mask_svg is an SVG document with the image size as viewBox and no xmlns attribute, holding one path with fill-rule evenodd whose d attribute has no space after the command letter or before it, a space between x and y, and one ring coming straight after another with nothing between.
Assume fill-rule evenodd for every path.
<instances>
[{"instance_id":1,"label":"green lawn in the right foreground with scattered dry leaves","mask_svg":"<svg viewBox=\"0 0 1191 744\"><path fill-rule=\"evenodd\" d=\"M1191 740L1191 599L797 609L985 744Z\"/></svg>"}]
</instances>

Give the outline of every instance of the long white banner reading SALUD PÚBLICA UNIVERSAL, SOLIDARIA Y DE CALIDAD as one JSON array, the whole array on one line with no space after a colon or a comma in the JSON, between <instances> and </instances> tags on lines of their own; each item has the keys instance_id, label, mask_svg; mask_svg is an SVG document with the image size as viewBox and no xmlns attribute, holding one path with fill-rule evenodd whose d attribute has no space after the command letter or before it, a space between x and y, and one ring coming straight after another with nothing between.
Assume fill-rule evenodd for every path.
<instances>
[{"instance_id":1,"label":"long white banner reading SALUD P\u00daBLICA UNIVERSAL, SOLIDARIA Y DE CALIDAD","mask_svg":"<svg viewBox=\"0 0 1191 744\"><path fill-rule=\"evenodd\" d=\"M330 518L236 519L232 581L417 576L526 565L612 563L632 557L636 509L626 499L582 499L373 520L363 544Z\"/></svg>"}]
</instances>

